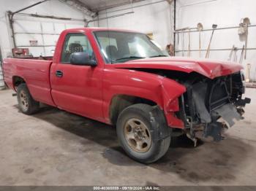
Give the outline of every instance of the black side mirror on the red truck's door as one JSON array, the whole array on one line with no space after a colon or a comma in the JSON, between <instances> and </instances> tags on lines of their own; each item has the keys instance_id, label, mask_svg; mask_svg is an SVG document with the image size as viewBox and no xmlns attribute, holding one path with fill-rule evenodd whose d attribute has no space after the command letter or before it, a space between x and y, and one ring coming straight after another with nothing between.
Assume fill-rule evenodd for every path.
<instances>
[{"instance_id":1,"label":"black side mirror on the red truck's door","mask_svg":"<svg viewBox=\"0 0 256 191\"><path fill-rule=\"evenodd\" d=\"M70 63L80 66L97 66L97 62L91 60L86 52L73 52L70 55Z\"/></svg>"}]
</instances>

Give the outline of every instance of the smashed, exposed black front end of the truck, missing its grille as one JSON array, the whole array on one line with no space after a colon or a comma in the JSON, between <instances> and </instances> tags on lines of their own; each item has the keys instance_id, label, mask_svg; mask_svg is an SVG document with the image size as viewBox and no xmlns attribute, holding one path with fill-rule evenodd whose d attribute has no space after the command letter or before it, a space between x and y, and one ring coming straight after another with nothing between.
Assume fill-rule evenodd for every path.
<instances>
[{"instance_id":1,"label":"smashed, exposed black front end of the truck, missing its grille","mask_svg":"<svg viewBox=\"0 0 256 191\"><path fill-rule=\"evenodd\" d=\"M244 94L241 72L215 79L186 80L187 92L179 98L177 117L184 121L184 133L197 143L197 138L214 141L223 139L222 133L243 119L244 106L250 103Z\"/></svg>"}]
</instances>

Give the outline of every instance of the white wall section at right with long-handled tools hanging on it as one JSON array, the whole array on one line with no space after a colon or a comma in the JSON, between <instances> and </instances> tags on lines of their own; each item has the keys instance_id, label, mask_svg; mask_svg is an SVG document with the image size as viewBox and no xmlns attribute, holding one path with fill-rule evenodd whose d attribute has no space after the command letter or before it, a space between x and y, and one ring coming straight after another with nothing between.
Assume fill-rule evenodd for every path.
<instances>
[{"instance_id":1,"label":"white wall section at right with long-handled tools hanging on it","mask_svg":"<svg viewBox=\"0 0 256 191\"><path fill-rule=\"evenodd\" d=\"M217 24L219 28L238 26L241 18L249 17L252 25L256 24L255 17L255 0L177 0L177 20L176 28L196 27L197 23L202 23L205 29L211 28L212 24ZM202 33L202 48L207 49L208 42L211 36L211 31ZM178 50L181 50L181 35L179 36ZM249 28L248 48L256 47L256 27ZM198 33L191 34L191 49L199 48ZM176 39L178 42L178 39ZM212 49L232 48L233 44L242 48L244 41L238 37L238 28L215 31L212 40ZM188 35L185 34L185 49L188 46ZM202 52L205 56L206 52ZM181 55L179 52L177 55ZM227 60L230 55L230 50L212 51L210 58ZM241 50L238 50L238 61L241 55ZM192 52L192 56L199 57L199 52ZM256 80L256 50L247 50L247 59L243 62L244 67L247 63L251 63L251 79ZM246 70L245 70L246 71Z\"/></svg>"}]
</instances>

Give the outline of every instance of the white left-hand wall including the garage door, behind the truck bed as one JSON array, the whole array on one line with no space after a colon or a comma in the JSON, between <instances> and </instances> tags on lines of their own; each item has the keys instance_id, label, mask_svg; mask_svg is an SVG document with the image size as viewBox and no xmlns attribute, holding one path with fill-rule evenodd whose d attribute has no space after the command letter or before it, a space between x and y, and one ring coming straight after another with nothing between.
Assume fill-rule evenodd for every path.
<instances>
[{"instance_id":1,"label":"white left-hand wall including the garage door, behind the truck bed","mask_svg":"<svg viewBox=\"0 0 256 191\"><path fill-rule=\"evenodd\" d=\"M10 55L12 50L12 39L10 38L10 29L7 19L7 10L16 11L23 7L29 6L38 2L39 0L1 0L0 1L0 45L2 50L3 58ZM22 3L21 3L22 2ZM59 17L72 17L72 18L88 18L79 12L77 9L69 7L66 4L61 3L58 0L46 1L45 3L39 4L35 7L25 10L26 13L37 13L39 15L55 15ZM42 41L45 41L46 45L54 45L58 39L59 33L65 28L76 28L83 27L83 22L76 21L61 21L51 20L45 18L15 16L14 28L15 32L24 33L47 33L56 35L40 35L40 34L16 34L17 45L29 45L29 40L37 40L38 45L42 45ZM38 55L51 55L50 50L54 47L30 47L30 52L34 56Z\"/></svg>"}]
</instances>

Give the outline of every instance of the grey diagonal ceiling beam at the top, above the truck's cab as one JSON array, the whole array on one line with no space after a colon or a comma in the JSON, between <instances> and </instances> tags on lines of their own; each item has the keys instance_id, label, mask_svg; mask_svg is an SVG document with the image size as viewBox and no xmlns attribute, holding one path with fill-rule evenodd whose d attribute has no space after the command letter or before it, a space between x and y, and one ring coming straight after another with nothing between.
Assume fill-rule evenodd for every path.
<instances>
[{"instance_id":1,"label":"grey diagonal ceiling beam at the top, above the truck's cab","mask_svg":"<svg viewBox=\"0 0 256 191\"><path fill-rule=\"evenodd\" d=\"M86 6L86 4L83 4L83 2L81 2L79 0L59 0L59 1L63 2L64 4L69 5L71 7L74 7L75 9L78 9L80 12L85 13L89 17L94 18L97 16L97 12L91 11L91 9L89 9Z\"/></svg>"}]
</instances>

